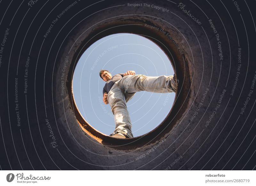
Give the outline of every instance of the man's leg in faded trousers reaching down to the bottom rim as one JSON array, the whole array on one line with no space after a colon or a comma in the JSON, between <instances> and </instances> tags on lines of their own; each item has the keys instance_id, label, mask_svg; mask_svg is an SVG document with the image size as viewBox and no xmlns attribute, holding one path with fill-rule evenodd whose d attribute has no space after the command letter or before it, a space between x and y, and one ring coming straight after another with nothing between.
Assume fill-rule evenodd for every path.
<instances>
[{"instance_id":1,"label":"man's leg in faded trousers reaching down to the bottom rim","mask_svg":"<svg viewBox=\"0 0 256 186\"><path fill-rule=\"evenodd\" d=\"M116 124L114 134L121 133L129 138L133 137L132 123L127 110L125 95L116 84L108 92L108 103L111 106Z\"/></svg>"}]
</instances>

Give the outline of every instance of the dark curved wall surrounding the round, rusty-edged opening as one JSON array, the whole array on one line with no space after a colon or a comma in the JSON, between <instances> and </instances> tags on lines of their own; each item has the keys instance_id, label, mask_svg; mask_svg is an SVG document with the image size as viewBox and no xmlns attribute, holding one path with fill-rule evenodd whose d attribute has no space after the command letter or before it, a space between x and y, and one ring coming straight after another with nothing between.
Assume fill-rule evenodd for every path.
<instances>
[{"instance_id":1,"label":"dark curved wall surrounding the round, rusty-edged opening","mask_svg":"<svg viewBox=\"0 0 256 186\"><path fill-rule=\"evenodd\" d=\"M6 87L1 90L1 168L255 169L250 146L255 144L255 94L250 92L255 63L249 55L255 30L248 29L247 4L241 4L240 14L232 2L179 3L37 2L10 27L4 17L1 27L10 31L0 68ZM72 95L79 57L115 33L139 34L158 44L179 79L175 104L163 123L125 140L94 130Z\"/></svg>"}]
</instances>

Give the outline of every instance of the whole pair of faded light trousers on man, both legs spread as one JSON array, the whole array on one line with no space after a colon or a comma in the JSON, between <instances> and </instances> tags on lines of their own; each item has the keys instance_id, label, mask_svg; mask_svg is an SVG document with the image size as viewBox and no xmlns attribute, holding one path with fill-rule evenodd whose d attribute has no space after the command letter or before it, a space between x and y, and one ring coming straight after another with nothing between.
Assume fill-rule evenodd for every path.
<instances>
[{"instance_id":1,"label":"whole pair of faded light trousers on man, both legs spread","mask_svg":"<svg viewBox=\"0 0 256 186\"><path fill-rule=\"evenodd\" d=\"M127 137L132 135L132 123L127 110L129 101L139 91L168 93L177 91L177 83L173 76L127 75L117 81L108 93L108 103L114 114L116 129L113 134L121 133Z\"/></svg>"}]
</instances>

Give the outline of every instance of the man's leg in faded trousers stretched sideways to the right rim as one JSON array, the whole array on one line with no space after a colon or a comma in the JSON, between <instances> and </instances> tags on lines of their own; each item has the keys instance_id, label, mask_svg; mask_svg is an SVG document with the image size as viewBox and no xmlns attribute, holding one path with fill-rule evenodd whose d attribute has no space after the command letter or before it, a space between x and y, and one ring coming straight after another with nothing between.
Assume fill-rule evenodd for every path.
<instances>
[{"instance_id":1,"label":"man's leg in faded trousers stretched sideways to the right rim","mask_svg":"<svg viewBox=\"0 0 256 186\"><path fill-rule=\"evenodd\" d=\"M127 75L116 82L116 85L124 93L139 91L148 91L156 93L169 93L177 91L177 83L174 76L145 76L145 75Z\"/></svg>"}]
</instances>

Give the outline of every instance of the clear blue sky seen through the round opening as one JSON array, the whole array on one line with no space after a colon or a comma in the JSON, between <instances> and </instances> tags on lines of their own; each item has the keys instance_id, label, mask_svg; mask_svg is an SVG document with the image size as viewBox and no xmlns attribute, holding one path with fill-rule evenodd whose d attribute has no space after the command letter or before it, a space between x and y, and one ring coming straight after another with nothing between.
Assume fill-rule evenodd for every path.
<instances>
[{"instance_id":1,"label":"clear blue sky seen through the round opening","mask_svg":"<svg viewBox=\"0 0 256 186\"><path fill-rule=\"evenodd\" d=\"M169 58L155 43L134 34L113 34L93 43L79 59L74 76L76 105L84 119L96 130L109 135L115 129L110 105L102 101L105 85L99 72L108 70L112 76L134 70L147 76L173 75ZM175 93L141 91L127 103L133 136L156 128L170 112Z\"/></svg>"}]
</instances>

